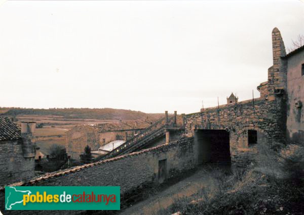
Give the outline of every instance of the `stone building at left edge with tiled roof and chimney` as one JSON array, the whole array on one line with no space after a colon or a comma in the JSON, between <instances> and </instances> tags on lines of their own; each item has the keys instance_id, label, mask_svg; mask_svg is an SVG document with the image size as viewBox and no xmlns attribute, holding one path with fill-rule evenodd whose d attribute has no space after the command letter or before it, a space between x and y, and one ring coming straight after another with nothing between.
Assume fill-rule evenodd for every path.
<instances>
[{"instance_id":1,"label":"stone building at left edge with tiled roof and chimney","mask_svg":"<svg viewBox=\"0 0 304 215\"><path fill-rule=\"evenodd\" d=\"M21 123L21 130L0 117L0 186L28 179L35 169L35 123Z\"/></svg>"}]
</instances>

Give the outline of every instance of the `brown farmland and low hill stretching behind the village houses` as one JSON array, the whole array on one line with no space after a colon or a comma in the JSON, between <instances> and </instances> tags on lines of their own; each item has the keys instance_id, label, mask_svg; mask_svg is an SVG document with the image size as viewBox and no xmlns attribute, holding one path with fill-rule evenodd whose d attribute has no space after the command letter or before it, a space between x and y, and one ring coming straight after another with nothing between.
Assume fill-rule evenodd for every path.
<instances>
[{"instance_id":1,"label":"brown farmland and low hill stretching behind the village houses","mask_svg":"<svg viewBox=\"0 0 304 215\"><path fill-rule=\"evenodd\" d=\"M36 122L36 145L43 154L50 154L53 144L65 145L65 133L77 125L96 125L104 123L135 124L146 127L150 122L163 117L163 114L145 114L143 112L119 109L24 109L1 108L0 115L11 118L19 124L23 121ZM140 125L139 121L144 122ZM136 123L137 124L137 123ZM127 126L128 127L128 126ZM130 127L130 126L129 126Z\"/></svg>"}]
</instances>

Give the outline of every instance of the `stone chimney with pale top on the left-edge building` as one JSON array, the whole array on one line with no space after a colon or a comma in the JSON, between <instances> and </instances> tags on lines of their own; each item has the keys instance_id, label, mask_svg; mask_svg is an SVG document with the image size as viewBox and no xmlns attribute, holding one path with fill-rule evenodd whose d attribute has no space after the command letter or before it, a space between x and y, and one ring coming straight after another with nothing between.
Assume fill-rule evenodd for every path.
<instances>
[{"instance_id":1,"label":"stone chimney with pale top on the left-edge building","mask_svg":"<svg viewBox=\"0 0 304 215\"><path fill-rule=\"evenodd\" d=\"M22 152L24 158L35 157L36 122L21 122Z\"/></svg>"}]
</instances>

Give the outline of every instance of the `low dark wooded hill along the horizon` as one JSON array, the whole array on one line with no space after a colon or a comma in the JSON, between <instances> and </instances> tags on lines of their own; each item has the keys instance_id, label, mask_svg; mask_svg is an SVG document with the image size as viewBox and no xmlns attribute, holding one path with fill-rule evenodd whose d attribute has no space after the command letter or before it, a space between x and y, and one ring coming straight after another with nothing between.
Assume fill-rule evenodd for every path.
<instances>
[{"instance_id":1,"label":"low dark wooded hill along the horizon","mask_svg":"<svg viewBox=\"0 0 304 215\"><path fill-rule=\"evenodd\" d=\"M0 108L0 116L18 115L55 115L67 119L99 119L99 120L144 120L155 121L164 114L146 114L140 111L122 109L89 109L89 108L64 108L64 109L24 109L24 108Z\"/></svg>"}]
</instances>

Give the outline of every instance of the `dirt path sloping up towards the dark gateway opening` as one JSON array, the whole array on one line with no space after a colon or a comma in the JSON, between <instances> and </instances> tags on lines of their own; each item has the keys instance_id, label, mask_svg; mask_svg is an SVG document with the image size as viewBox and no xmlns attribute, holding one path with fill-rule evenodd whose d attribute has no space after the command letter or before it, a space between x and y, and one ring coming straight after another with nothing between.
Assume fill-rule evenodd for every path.
<instances>
[{"instance_id":1,"label":"dirt path sloping up towards the dark gateway opening","mask_svg":"<svg viewBox=\"0 0 304 215\"><path fill-rule=\"evenodd\" d=\"M206 188L207 186L208 189L214 186L210 167L200 168L193 175L146 200L130 206L119 214L157 214L159 210L168 208L177 198L191 197L194 200L201 198L200 192L202 188Z\"/></svg>"}]
</instances>

